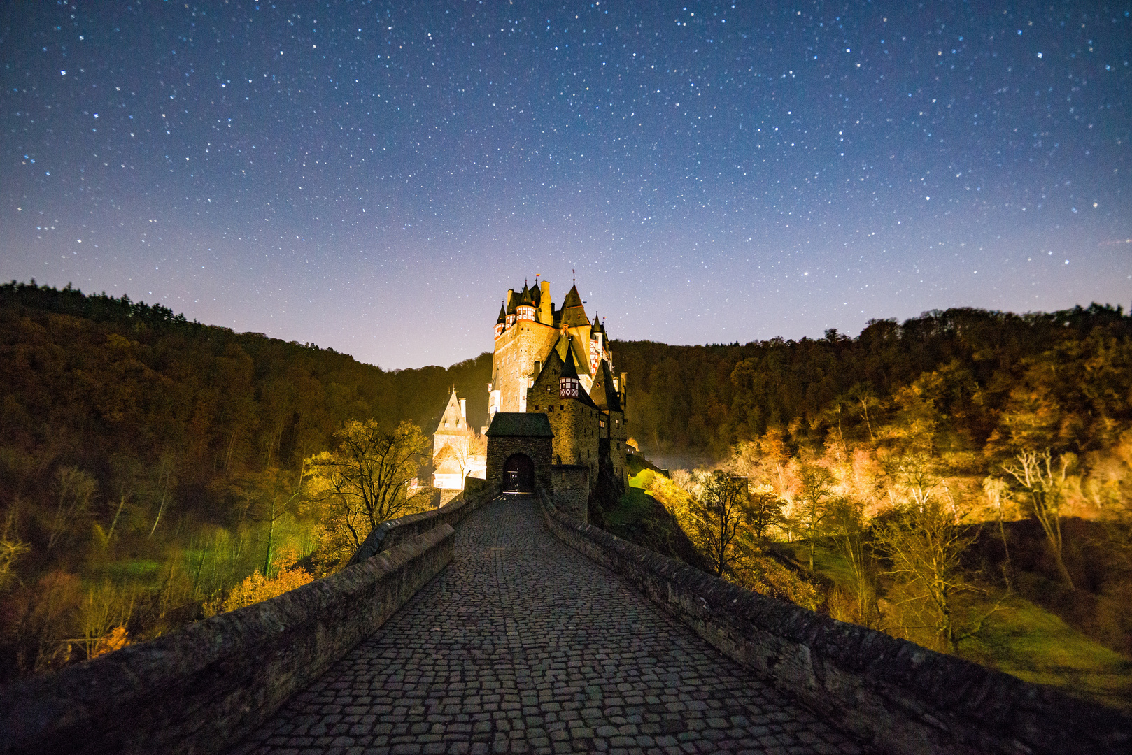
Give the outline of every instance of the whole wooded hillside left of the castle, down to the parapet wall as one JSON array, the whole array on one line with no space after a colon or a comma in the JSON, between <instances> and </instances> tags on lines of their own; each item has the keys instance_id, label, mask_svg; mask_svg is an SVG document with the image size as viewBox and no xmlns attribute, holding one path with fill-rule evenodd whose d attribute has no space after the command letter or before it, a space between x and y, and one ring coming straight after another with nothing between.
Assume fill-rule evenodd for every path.
<instances>
[{"instance_id":1,"label":"whole wooded hillside left of the castle, down to the parapet wall","mask_svg":"<svg viewBox=\"0 0 1132 755\"><path fill-rule=\"evenodd\" d=\"M126 297L0 286L0 678L309 581L328 533L295 495L305 463L351 420L430 431L453 385L489 379L490 354L388 371Z\"/></svg>"}]
</instances>

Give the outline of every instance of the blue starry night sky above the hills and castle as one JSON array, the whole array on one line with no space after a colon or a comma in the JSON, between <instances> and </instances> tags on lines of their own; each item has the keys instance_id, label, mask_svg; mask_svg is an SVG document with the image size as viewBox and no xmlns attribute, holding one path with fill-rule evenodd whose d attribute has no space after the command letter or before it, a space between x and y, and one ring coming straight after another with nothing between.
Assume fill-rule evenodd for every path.
<instances>
[{"instance_id":1,"label":"blue starry night sky above the hills and castle","mask_svg":"<svg viewBox=\"0 0 1132 755\"><path fill-rule=\"evenodd\" d=\"M0 278L385 368L1132 299L1132 2L8 2Z\"/></svg>"}]
</instances>

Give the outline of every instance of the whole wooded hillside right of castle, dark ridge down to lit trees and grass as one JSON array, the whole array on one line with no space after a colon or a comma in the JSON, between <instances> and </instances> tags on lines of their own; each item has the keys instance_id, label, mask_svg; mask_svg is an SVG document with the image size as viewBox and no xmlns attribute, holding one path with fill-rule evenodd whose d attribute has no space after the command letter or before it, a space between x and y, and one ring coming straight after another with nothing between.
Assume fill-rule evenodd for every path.
<instances>
[{"instance_id":1,"label":"whole wooded hillside right of castle, dark ridge down to lit trees and grass","mask_svg":"<svg viewBox=\"0 0 1132 755\"><path fill-rule=\"evenodd\" d=\"M958 309L856 338L615 350L629 432L694 467L634 484L711 570L1130 705L1132 318L1120 308Z\"/></svg>"}]
</instances>

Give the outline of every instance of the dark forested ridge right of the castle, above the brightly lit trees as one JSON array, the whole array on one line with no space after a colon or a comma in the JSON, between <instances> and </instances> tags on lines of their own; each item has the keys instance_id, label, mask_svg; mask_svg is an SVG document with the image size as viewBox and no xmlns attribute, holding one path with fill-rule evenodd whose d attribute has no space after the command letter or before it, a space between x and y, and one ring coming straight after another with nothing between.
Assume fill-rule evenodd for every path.
<instances>
[{"instance_id":1,"label":"dark forested ridge right of the castle, above the brightly lit trees","mask_svg":"<svg viewBox=\"0 0 1132 755\"><path fill-rule=\"evenodd\" d=\"M629 432L659 455L722 460L771 428L795 451L820 452L831 432L869 444L917 412L938 451L987 462L1021 445L1088 453L1132 427L1132 317L1121 307L949 309L873 320L857 337L612 348L628 372Z\"/></svg>"}]
</instances>

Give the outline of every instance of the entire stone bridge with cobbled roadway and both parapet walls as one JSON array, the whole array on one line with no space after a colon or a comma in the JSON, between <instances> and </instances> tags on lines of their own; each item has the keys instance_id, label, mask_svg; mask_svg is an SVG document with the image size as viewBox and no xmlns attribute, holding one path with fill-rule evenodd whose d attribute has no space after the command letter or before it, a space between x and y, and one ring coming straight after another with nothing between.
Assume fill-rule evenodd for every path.
<instances>
[{"instance_id":1,"label":"entire stone bridge with cobbled roadway and both parapet walls","mask_svg":"<svg viewBox=\"0 0 1132 755\"><path fill-rule=\"evenodd\" d=\"M1115 753L1130 722L743 591L538 495L0 689L0 753Z\"/></svg>"}]
</instances>

